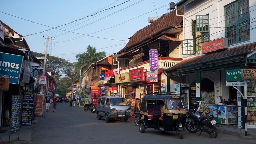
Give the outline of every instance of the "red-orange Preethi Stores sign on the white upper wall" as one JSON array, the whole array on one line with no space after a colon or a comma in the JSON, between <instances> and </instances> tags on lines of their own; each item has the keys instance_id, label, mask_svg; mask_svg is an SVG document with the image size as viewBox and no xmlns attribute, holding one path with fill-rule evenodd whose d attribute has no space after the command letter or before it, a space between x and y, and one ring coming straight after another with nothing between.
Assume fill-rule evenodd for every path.
<instances>
[{"instance_id":1,"label":"red-orange Preethi Stores sign on the white upper wall","mask_svg":"<svg viewBox=\"0 0 256 144\"><path fill-rule=\"evenodd\" d=\"M214 41L209 41L201 44L202 54L217 51L220 49L228 48L228 40L227 38L222 38Z\"/></svg>"}]
</instances>

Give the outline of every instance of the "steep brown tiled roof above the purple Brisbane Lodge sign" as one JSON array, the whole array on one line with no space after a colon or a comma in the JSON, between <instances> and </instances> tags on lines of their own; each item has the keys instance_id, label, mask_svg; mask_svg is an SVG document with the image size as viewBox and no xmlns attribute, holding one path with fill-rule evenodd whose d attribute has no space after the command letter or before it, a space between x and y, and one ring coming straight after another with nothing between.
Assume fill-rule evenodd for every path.
<instances>
[{"instance_id":1,"label":"steep brown tiled roof above the purple Brisbane Lodge sign","mask_svg":"<svg viewBox=\"0 0 256 144\"><path fill-rule=\"evenodd\" d=\"M184 8L178 10L178 14L184 14ZM179 26L183 23L183 17L176 16L176 11L167 13L157 20L155 20L150 25L144 27L143 29L137 31L126 44L126 46L121 49L118 53L124 52L124 50L132 48L136 44L140 44L143 41L148 39L153 39L155 35L160 34L161 32L170 29L174 26Z\"/></svg>"}]
</instances>

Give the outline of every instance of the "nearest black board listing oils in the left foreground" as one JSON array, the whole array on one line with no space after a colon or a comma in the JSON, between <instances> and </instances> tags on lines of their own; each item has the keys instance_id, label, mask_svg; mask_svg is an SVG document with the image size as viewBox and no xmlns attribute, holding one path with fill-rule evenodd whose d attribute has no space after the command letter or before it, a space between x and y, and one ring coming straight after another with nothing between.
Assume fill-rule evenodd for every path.
<instances>
[{"instance_id":1,"label":"nearest black board listing oils in the left foreground","mask_svg":"<svg viewBox=\"0 0 256 144\"><path fill-rule=\"evenodd\" d=\"M10 133L20 129L20 118L22 111L22 95L12 95L11 126Z\"/></svg>"}]
</instances>

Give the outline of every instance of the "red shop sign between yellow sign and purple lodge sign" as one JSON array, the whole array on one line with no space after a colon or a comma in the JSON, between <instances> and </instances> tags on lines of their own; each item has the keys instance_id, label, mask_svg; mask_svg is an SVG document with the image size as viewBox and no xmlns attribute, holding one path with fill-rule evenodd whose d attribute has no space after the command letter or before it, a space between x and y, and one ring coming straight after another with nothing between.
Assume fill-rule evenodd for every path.
<instances>
[{"instance_id":1,"label":"red shop sign between yellow sign and purple lodge sign","mask_svg":"<svg viewBox=\"0 0 256 144\"><path fill-rule=\"evenodd\" d=\"M144 67L129 71L130 81L145 81Z\"/></svg>"}]
</instances>

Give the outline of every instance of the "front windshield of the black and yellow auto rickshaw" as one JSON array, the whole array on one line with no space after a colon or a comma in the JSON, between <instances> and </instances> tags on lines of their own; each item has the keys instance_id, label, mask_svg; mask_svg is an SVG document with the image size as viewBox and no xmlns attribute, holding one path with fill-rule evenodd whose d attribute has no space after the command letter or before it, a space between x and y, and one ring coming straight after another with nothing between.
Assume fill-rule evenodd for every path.
<instances>
[{"instance_id":1,"label":"front windshield of the black and yellow auto rickshaw","mask_svg":"<svg viewBox=\"0 0 256 144\"><path fill-rule=\"evenodd\" d=\"M181 99L166 99L167 110L185 110Z\"/></svg>"}]
</instances>

